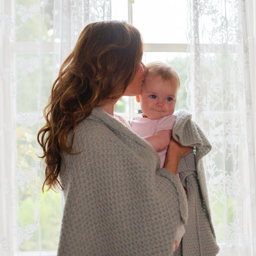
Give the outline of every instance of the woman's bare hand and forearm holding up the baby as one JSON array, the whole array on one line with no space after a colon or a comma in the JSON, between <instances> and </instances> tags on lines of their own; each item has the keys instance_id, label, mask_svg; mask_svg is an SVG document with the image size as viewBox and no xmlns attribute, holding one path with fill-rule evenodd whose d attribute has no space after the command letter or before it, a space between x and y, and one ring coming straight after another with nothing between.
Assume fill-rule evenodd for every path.
<instances>
[{"instance_id":1,"label":"woman's bare hand and forearm holding up the baby","mask_svg":"<svg viewBox=\"0 0 256 256\"><path fill-rule=\"evenodd\" d=\"M193 147L182 146L172 138L166 153L164 168L167 168L174 174L177 174L180 158L191 152L193 152Z\"/></svg>"}]
</instances>

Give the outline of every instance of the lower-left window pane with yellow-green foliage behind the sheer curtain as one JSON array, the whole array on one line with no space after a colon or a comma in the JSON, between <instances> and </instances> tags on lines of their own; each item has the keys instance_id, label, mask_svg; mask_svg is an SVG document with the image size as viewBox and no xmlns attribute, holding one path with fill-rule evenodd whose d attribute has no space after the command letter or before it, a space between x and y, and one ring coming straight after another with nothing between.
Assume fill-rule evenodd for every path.
<instances>
[{"instance_id":1,"label":"lower-left window pane with yellow-green foliage behind the sheer curtain","mask_svg":"<svg viewBox=\"0 0 256 256\"><path fill-rule=\"evenodd\" d=\"M19 186L18 224L20 251L57 250L61 223L61 193L42 195L43 177L36 135L43 124L17 120L16 175ZM44 168L42 168L43 170ZM49 232L51 231L51 232Z\"/></svg>"}]
</instances>

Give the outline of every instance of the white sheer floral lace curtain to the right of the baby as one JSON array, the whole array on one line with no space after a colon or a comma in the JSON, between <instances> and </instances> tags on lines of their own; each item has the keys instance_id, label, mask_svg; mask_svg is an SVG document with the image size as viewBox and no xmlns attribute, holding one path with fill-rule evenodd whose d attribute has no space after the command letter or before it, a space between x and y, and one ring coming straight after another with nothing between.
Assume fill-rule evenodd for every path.
<instances>
[{"instance_id":1,"label":"white sheer floral lace curtain to the right of the baby","mask_svg":"<svg viewBox=\"0 0 256 256\"><path fill-rule=\"evenodd\" d=\"M225 256L256 255L255 1L244 2L188 0L188 106L212 143L204 164Z\"/></svg>"}]
</instances>

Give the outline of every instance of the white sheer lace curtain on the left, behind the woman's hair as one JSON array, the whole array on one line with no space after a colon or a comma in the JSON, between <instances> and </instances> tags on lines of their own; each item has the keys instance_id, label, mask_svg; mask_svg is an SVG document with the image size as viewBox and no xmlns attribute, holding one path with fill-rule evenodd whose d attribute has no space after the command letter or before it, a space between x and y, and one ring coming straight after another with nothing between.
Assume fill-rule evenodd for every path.
<instances>
[{"instance_id":1,"label":"white sheer lace curtain on the left, behind the woman's hair","mask_svg":"<svg viewBox=\"0 0 256 256\"><path fill-rule=\"evenodd\" d=\"M111 0L0 2L2 256L56 255L61 194L42 195L36 133L52 82L77 36L89 22L109 19Z\"/></svg>"}]
</instances>

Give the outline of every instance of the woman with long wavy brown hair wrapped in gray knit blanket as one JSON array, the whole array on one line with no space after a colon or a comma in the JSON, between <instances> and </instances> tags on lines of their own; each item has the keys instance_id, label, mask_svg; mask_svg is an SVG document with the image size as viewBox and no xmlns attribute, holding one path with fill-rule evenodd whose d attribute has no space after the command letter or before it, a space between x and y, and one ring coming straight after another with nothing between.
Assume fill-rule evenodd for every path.
<instances>
[{"instance_id":1,"label":"woman with long wavy brown hair wrapped in gray knit blanket","mask_svg":"<svg viewBox=\"0 0 256 256\"><path fill-rule=\"evenodd\" d=\"M140 94L142 54L126 22L89 24L52 87L38 142L44 186L65 196L59 256L173 255L188 216L175 174L191 148L172 140L159 168L155 150L113 116L120 97Z\"/></svg>"}]
</instances>

